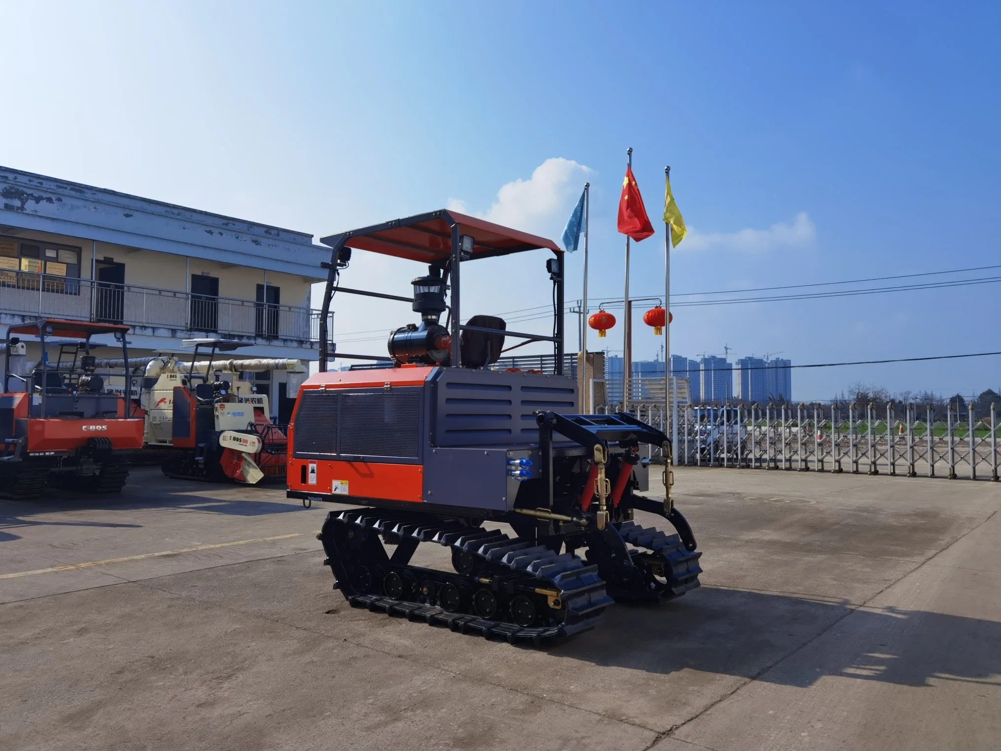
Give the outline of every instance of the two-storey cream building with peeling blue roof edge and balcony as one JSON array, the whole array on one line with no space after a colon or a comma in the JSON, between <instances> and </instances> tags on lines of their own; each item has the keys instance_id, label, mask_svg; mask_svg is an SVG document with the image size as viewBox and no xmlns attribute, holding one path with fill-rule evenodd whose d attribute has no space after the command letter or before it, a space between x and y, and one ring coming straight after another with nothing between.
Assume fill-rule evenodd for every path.
<instances>
[{"instance_id":1,"label":"two-storey cream building with peeling blue roof edge and balcony","mask_svg":"<svg viewBox=\"0 0 1001 751\"><path fill-rule=\"evenodd\" d=\"M0 167L0 332L39 316L96 320L131 326L130 356L218 336L248 344L227 358L315 360L310 284L328 259L305 232ZM285 374L256 378L287 419Z\"/></svg>"}]
</instances>

